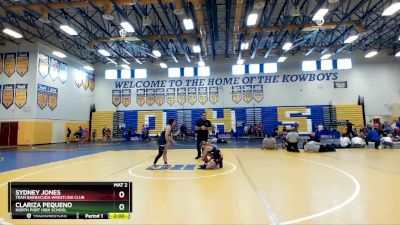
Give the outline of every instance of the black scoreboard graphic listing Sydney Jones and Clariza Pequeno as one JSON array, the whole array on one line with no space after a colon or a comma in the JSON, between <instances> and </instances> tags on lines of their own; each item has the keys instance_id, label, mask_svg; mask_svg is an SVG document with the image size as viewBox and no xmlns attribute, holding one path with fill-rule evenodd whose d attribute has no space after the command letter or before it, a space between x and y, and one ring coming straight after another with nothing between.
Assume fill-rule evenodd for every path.
<instances>
[{"instance_id":1,"label":"black scoreboard graphic listing Sydney Jones and Clariza Pequeno","mask_svg":"<svg viewBox=\"0 0 400 225\"><path fill-rule=\"evenodd\" d=\"M129 219L131 182L10 182L12 219Z\"/></svg>"}]
</instances>

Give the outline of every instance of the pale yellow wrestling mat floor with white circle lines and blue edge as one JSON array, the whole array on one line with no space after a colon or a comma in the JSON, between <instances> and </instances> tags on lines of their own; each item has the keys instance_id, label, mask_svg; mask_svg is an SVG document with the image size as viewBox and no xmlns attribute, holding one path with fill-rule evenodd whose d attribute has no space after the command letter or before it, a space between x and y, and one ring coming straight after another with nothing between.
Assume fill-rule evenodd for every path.
<instances>
[{"instance_id":1,"label":"pale yellow wrestling mat floor with white circle lines and blue edge","mask_svg":"<svg viewBox=\"0 0 400 225\"><path fill-rule=\"evenodd\" d=\"M134 148L69 145L57 152L63 152L65 159L53 158L0 173L0 223L400 224L397 149L318 154L261 151L256 145L239 145L221 146L224 168L214 171L146 170L156 155L155 150L149 150L155 149L154 144ZM200 164L193 159L191 146L193 143L186 143L179 146L183 149L172 149L169 163ZM66 156L89 149L87 154ZM53 146L13 152L45 158L54 151ZM16 166L18 160L27 161L23 155L12 158L14 153L1 154L3 170L5 164ZM9 181L132 181L133 213L130 220L118 221L11 220L7 213Z\"/></svg>"}]
</instances>

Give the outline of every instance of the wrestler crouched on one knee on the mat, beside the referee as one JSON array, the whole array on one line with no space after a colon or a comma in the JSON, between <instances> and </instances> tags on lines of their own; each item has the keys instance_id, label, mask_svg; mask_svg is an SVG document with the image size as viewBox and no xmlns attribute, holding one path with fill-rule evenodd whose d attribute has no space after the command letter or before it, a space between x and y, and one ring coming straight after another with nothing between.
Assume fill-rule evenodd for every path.
<instances>
[{"instance_id":1,"label":"wrestler crouched on one knee on the mat, beside the referee","mask_svg":"<svg viewBox=\"0 0 400 225\"><path fill-rule=\"evenodd\" d=\"M222 168L224 157L221 150L217 146L206 141L202 141L200 146L203 150L202 160L204 161L204 165L201 165L199 169L210 170Z\"/></svg>"}]
</instances>

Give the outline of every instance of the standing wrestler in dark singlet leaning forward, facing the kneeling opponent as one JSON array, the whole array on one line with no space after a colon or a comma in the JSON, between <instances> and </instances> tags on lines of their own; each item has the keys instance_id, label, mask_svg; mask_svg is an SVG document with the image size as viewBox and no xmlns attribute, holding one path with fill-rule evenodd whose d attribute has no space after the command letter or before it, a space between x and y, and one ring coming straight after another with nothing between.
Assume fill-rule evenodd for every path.
<instances>
[{"instance_id":1,"label":"standing wrestler in dark singlet leaning forward, facing the kneeling opponent","mask_svg":"<svg viewBox=\"0 0 400 225\"><path fill-rule=\"evenodd\" d=\"M161 156L164 160L164 169L168 168L167 150L169 149L169 146L171 144L176 144L176 142L172 138L172 127L175 126L175 124L175 119L169 119L165 130L161 132L161 135L158 138L158 155L154 159L153 165L151 166L152 169L157 169L157 161L161 158Z\"/></svg>"}]
</instances>

